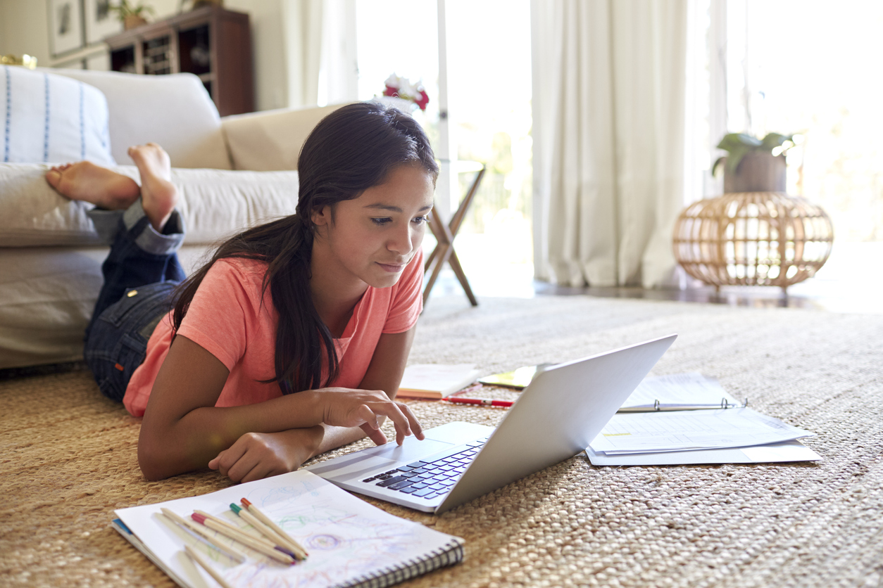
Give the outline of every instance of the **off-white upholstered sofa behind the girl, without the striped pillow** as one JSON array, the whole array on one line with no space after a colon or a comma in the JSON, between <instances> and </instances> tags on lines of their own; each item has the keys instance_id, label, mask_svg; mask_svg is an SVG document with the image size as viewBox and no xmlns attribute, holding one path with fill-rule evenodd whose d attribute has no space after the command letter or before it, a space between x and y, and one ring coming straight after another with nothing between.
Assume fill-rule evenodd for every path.
<instances>
[{"instance_id":1,"label":"off-white upholstered sofa behind the girl, without the striped pillow","mask_svg":"<svg viewBox=\"0 0 883 588\"><path fill-rule=\"evenodd\" d=\"M294 212L300 147L337 108L222 119L191 74L47 72L78 79L107 98L117 171L137 180L125 154L130 145L153 141L170 154L183 192L188 234L181 258L188 272L225 235ZM108 248L86 215L89 205L59 196L45 182L48 167L0 163L0 368L79 360L101 287Z\"/></svg>"}]
</instances>

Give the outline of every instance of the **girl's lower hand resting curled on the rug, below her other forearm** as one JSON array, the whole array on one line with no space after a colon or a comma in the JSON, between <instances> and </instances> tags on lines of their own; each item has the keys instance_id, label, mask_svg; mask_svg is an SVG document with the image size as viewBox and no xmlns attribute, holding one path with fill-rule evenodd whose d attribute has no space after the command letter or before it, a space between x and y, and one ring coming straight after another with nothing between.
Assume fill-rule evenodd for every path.
<instances>
[{"instance_id":1,"label":"girl's lower hand resting curled on the rug, below her other forearm","mask_svg":"<svg viewBox=\"0 0 883 588\"><path fill-rule=\"evenodd\" d=\"M250 482L297 470L313 457L321 427L293 428L280 433L245 433L230 449L208 462L234 482Z\"/></svg>"}]
</instances>

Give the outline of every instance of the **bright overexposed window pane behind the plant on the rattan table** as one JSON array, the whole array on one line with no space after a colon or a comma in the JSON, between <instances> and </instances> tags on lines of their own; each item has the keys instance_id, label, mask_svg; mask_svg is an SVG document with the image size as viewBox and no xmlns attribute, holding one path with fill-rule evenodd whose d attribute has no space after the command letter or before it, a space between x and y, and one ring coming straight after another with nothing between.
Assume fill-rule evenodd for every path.
<instances>
[{"instance_id":1,"label":"bright overexposed window pane behind the plant on the rattan table","mask_svg":"<svg viewBox=\"0 0 883 588\"><path fill-rule=\"evenodd\" d=\"M883 3L730 2L743 22L728 35L744 26L745 55L728 88L730 130L804 134L789 193L826 210L837 242L883 241Z\"/></svg>"}]
</instances>

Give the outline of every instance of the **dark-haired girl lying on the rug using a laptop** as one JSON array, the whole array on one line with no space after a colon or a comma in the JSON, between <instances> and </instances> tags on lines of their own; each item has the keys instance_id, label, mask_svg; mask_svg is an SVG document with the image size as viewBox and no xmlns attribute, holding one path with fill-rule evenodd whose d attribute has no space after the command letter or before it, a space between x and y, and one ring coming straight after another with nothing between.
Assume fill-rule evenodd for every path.
<instances>
[{"instance_id":1,"label":"dark-haired girl lying on the rug using a laptop","mask_svg":"<svg viewBox=\"0 0 883 588\"><path fill-rule=\"evenodd\" d=\"M47 180L97 205L113 239L84 354L102 392L143 415L148 480L206 465L233 481L290 472L364 435L386 443L385 417L397 443L423 438L395 402L438 175L418 123L373 102L328 115L298 159L297 213L224 242L188 279L169 157L129 153L140 188L87 162Z\"/></svg>"}]
</instances>

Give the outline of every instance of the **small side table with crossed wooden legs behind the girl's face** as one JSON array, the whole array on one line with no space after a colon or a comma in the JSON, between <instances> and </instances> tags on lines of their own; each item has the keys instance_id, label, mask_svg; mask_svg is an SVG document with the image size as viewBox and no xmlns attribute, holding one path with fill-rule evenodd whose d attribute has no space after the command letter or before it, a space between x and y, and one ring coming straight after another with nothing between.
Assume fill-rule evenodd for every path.
<instances>
[{"instance_id":1,"label":"small side table with crossed wooden legs behind the girl's face","mask_svg":"<svg viewBox=\"0 0 883 588\"><path fill-rule=\"evenodd\" d=\"M439 272L442 272L442 265L448 262L451 269L457 275L457 280L460 282L460 286L463 287L472 306L478 306L479 301L475 298L475 294L472 294L472 287L469 286L469 280L466 279L463 266L457 257L457 251L454 250L454 237L457 236L457 231L460 230L460 225L463 224L466 212L469 211L469 207L472 205L472 199L475 197L476 192L479 191L481 178L484 177L487 168L479 161L444 161L442 163L460 165L460 169L457 170L458 173L474 171L475 177L472 179L472 185L470 185L466 196L460 202L457 212L454 212L449 223L446 224L442 220L442 215L439 214L435 206L433 206L432 214L429 215L429 230L433 232L438 244L435 245L435 249L429 254L429 257L426 257L424 272L427 278L423 288L423 304L426 306L426 301L429 300L429 293L435 285L435 280L439 277Z\"/></svg>"}]
</instances>

